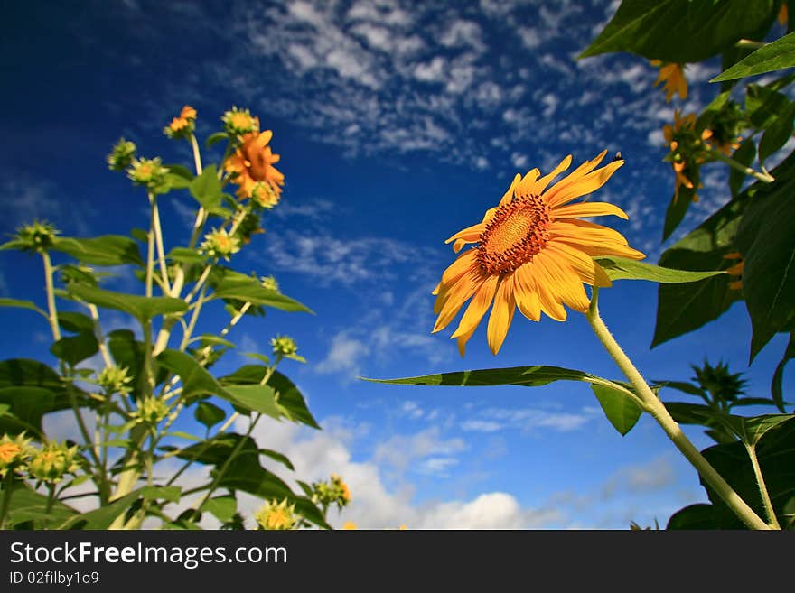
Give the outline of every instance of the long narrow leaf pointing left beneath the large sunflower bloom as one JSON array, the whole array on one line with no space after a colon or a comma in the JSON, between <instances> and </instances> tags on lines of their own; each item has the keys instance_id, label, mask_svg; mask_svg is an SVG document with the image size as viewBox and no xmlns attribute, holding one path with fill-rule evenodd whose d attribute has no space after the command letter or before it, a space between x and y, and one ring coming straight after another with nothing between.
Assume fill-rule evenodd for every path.
<instances>
[{"instance_id":1,"label":"long narrow leaf pointing left beneath the large sunflower bloom","mask_svg":"<svg viewBox=\"0 0 795 593\"><path fill-rule=\"evenodd\" d=\"M613 389L626 390L618 383L589 375L560 366L512 366L510 368L486 368L477 371L458 371L454 373L439 373L436 375L422 375L404 377L400 379L368 379L373 383L388 383L392 385L460 385L460 386L488 386L488 385L523 385L538 387L554 381L584 381L592 385L603 385Z\"/></svg>"}]
</instances>

